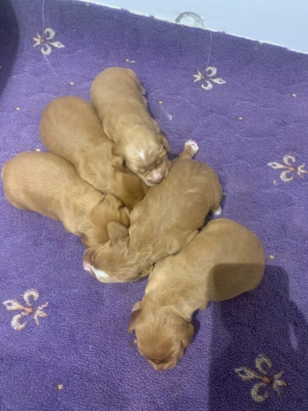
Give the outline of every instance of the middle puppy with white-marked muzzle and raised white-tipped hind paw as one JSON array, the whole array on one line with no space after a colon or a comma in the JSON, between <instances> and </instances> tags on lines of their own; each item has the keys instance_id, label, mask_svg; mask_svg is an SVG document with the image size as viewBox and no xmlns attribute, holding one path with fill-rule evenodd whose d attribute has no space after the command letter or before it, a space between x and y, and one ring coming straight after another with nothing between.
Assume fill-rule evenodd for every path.
<instances>
[{"instance_id":1,"label":"middle puppy with white-marked muzzle and raised white-tipped hind paw","mask_svg":"<svg viewBox=\"0 0 308 411\"><path fill-rule=\"evenodd\" d=\"M190 143L181 158L190 155ZM188 244L209 211L221 212L217 174L204 163L182 159L149 189L130 214L129 230L108 224L110 240L86 250L83 265L100 281L124 283L149 274L152 264Z\"/></svg>"}]
</instances>

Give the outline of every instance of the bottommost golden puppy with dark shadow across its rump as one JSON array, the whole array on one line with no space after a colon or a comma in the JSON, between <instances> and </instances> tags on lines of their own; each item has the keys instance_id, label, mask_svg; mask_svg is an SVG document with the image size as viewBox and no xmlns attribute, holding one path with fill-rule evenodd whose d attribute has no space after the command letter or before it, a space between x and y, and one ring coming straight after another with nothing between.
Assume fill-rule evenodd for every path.
<instances>
[{"instance_id":1,"label":"bottommost golden puppy with dark shadow across its rump","mask_svg":"<svg viewBox=\"0 0 308 411\"><path fill-rule=\"evenodd\" d=\"M264 264L255 234L232 220L209 222L180 253L156 264L134 305L128 332L136 332L141 355L157 370L174 367L194 335L192 313L253 290Z\"/></svg>"}]
</instances>

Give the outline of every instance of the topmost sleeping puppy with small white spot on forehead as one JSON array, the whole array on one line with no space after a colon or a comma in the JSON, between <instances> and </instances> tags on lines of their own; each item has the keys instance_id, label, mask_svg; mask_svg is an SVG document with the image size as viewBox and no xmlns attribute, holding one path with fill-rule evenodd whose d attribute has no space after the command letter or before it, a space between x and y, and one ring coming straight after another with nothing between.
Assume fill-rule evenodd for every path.
<instances>
[{"instance_id":1,"label":"topmost sleeping puppy with small white spot on forehead","mask_svg":"<svg viewBox=\"0 0 308 411\"><path fill-rule=\"evenodd\" d=\"M91 86L91 101L115 143L113 166L137 174L151 187L168 174L169 144L151 118L144 94L136 73L121 67L105 69Z\"/></svg>"}]
</instances>

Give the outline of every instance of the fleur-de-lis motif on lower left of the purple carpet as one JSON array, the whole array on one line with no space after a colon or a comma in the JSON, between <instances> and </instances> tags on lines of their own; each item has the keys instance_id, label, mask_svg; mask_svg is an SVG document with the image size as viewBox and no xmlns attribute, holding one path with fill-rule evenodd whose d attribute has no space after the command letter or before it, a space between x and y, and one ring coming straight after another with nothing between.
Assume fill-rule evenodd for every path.
<instances>
[{"instance_id":1,"label":"fleur-de-lis motif on lower left of the purple carpet","mask_svg":"<svg viewBox=\"0 0 308 411\"><path fill-rule=\"evenodd\" d=\"M16 331L23 330L27 325L27 320L24 319L26 316L33 316L36 325L40 325L40 318L47 317L44 308L48 306L48 303L44 303L38 307L34 307L34 302L38 298L37 290L30 289L27 290L23 295L25 305L18 303L16 300L6 300L3 305L8 311L21 311L19 314L13 316L11 320L11 326ZM32 302L31 302L32 300Z\"/></svg>"}]
</instances>

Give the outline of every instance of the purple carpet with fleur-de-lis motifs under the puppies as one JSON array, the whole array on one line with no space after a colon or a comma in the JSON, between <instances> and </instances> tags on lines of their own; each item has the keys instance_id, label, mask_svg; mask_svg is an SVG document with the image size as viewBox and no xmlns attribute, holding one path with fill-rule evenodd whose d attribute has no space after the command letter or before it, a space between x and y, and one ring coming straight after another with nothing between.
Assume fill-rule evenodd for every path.
<instances>
[{"instance_id":1,"label":"purple carpet with fleur-de-lis motifs under the puppies","mask_svg":"<svg viewBox=\"0 0 308 411\"><path fill-rule=\"evenodd\" d=\"M0 196L1 411L306 411L308 55L86 3L1 0L0 166L43 149L42 108L89 98L108 66L132 68L172 156L195 139L218 172L223 217L260 236L261 285L194 316L158 372L127 334L146 279L105 285L79 238ZM307 164L308 165L308 164Z\"/></svg>"}]
</instances>

